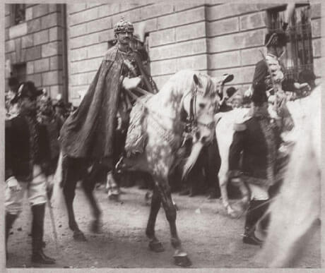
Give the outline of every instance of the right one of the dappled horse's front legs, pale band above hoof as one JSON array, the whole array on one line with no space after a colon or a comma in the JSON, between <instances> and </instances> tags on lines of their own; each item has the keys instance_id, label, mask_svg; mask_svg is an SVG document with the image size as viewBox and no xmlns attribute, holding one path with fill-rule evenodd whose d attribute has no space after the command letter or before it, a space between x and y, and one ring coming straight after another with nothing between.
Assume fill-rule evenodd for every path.
<instances>
[{"instance_id":1,"label":"right one of the dappled horse's front legs, pale band above hoof","mask_svg":"<svg viewBox=\"0 0 325 273\"><path fill-rule=\"evenodd\" d=\"M187 253L182 248L182 243L179 240L176 228L176 207L172 202L172 195L170 192L170 186L168 185L168 179L158 178L158 189L162 201L162 206L164 207L167 221L170 224L171 233L171 243L172 247L175 248L174 262L175 265L181 267L188 267L191 265L191 260L187 257Z\"/></svg>"}]
</instances>

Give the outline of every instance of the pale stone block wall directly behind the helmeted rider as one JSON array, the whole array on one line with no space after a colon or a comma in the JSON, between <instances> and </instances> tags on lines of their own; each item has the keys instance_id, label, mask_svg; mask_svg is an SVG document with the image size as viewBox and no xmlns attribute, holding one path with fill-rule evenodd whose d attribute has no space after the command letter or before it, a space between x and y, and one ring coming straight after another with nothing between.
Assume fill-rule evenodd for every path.
<instances>
[{"instance_id":1,"label":"pale stone block wall directly behind the helmeted rider","mask_svg":"<svg viewBox=\"0 0 325 273\"><path fill-rule=\"evenodd\" d=\"M205 6L200 1L175 2L67 5L69 95L73 104L79 103L93 80L121 16L134 23L135 30L138 23L146 22L151 73L158 87L179 69L206 71Z\"/></svg>"}]
</instances>

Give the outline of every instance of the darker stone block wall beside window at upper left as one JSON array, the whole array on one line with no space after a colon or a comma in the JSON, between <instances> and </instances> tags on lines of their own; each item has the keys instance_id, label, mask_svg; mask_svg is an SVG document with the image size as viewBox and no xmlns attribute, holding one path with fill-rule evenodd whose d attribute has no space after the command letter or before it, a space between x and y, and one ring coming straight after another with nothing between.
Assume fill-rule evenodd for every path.
<instances>
[{"instance_id":1,"label":"darker stone block wall beside window at upper left","mask_svg":"<svg viewBox=\"0 0 325 273\"><path fill-rule=\"evenodd\" d=\"M11 4L6 4L6 78L16 63L26 64L26 80L46 88L51 97L62 92L61 5L28 4L25 22L13 24Z\"/></svg>"}]
</instances>

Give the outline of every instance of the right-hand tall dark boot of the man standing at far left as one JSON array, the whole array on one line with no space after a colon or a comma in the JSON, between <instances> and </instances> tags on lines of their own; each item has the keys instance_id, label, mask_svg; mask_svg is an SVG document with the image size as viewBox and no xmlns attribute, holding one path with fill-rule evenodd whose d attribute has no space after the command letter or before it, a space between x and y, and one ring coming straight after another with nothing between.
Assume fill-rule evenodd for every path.
<instances>
[{"instance_id":1,"label":"right-hand tall dark boot of the man standing at far left","mask_svg":"<svg viewBox=\"0 0 325 273\"><path fill-rule=\"evenodd\" d=\"M55 260L43 253L45 204L32 206L32 262L52 265Z\"/></svg>"}]
</instances>

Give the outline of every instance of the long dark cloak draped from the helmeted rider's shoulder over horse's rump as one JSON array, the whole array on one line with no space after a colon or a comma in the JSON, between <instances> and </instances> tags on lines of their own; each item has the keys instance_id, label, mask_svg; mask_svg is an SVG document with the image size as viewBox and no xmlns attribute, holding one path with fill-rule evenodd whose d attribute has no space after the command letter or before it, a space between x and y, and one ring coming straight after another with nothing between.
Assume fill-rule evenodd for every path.
<instances>
[{"instance_id":1,"label":"long dark cloak draped from the helmeted rider's shoulder over horse's rump","mask_svg":"<svg viewBox=\"0 0 325 273\"><path fill-rule=\"evenodd\" d=\"M80 106L61 128L64 154L93 159L112 157L122 65L117 46L109 49Z\"/></svg>"}]
</instances>

